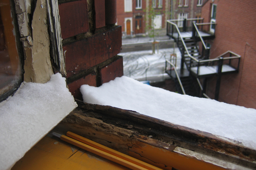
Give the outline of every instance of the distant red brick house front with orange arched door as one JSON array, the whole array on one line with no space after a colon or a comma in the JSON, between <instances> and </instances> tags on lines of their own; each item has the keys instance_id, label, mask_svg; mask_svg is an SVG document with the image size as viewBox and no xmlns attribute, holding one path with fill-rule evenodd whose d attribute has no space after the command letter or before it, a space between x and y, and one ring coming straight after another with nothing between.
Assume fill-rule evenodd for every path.
<instances>
[{"instance_id":1,"label":"distant red brick house front with orange arched door","mask_svg":"<svg viewBox=\"0 0 256 170\"><path fill-rule=\"evenodd\" d=\"M151 25L149 9L157 12L155 28L165 30L169 19L170 0L117 0L117 25L122 26L123 36L146 34Z\"/></svg>"}]
</instances>

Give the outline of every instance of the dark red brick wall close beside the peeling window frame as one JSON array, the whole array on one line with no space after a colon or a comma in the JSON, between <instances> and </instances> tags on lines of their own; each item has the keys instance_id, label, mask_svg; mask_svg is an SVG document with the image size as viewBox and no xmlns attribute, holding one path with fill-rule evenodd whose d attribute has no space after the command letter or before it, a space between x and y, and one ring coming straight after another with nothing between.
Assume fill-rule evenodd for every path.
<instances>
[{"instance_id":1,"label":"dark red brick wall close beside the peeling window frame","mask_svg":"<svg viewBox=\"0 0 256 170\"><path fill-rule=\"evenodd\" d=\"M114 26L116 3L111 2L79 0L59 4L67 84L76 99L82 100L81 85L100 86L123 76L123 58L117 56L122 28ZM106 10L102 10L105 6Z\"/></svg>"}]
</instances>

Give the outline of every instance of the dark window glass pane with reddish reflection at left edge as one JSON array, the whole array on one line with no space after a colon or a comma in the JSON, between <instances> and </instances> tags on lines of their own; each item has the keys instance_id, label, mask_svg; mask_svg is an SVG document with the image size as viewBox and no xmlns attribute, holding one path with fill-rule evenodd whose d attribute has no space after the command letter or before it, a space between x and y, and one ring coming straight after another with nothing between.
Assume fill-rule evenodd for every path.
<instances>
[{"instance_id":1,"label":"dark window glass pane with reddish reflection at left edge","mask_svg":"<svg viewBox=\"0 0 256 170\"><path fill-rule=\"evenodd\" d=\"M22 81L13 29L11 8L7 4L0 8L0 101L11 95Z\"/></svg>"}]
</instances>

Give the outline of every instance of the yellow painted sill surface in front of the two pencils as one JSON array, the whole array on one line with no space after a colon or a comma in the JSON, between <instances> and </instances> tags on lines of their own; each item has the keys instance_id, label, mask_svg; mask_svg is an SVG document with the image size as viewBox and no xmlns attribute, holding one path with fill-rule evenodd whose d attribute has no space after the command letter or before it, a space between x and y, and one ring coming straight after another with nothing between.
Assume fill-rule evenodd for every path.
<instances>
[{"instance_id":1,"label":"yellow painted sill surface in front of the two pencils","mask_svg":"<svg viewBox=\"0 0 256 170\"><path fill-rule=\"evenodd\" d=\"M44 137L12 170L129 170L63 141Z\"/></svg>"}]
</instances>

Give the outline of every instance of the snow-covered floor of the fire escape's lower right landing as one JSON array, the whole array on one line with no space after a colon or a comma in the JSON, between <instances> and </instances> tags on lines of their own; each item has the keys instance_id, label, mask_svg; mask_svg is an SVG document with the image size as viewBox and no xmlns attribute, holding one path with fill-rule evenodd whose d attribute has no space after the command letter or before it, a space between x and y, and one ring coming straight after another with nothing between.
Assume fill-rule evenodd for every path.
<instances>
[{"instance_id":1,"label":"snow-covered floor of the fire escape's lower right landing","mask_svg":"<svg viewBox=\"0 0 256 170\"><path fill-rule=\"evenodd\" d=\"M191 67L190 71L193 75L196 77L210 77L214 74L217 75L218 72L218 66L199 66L198 67L198 74L197 74L197 67ZM227 64L222 65L221 73L231 73L236 72L237 70Z\"/></svg>"}]
</instances>

